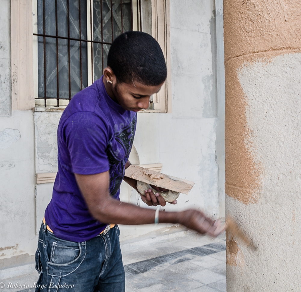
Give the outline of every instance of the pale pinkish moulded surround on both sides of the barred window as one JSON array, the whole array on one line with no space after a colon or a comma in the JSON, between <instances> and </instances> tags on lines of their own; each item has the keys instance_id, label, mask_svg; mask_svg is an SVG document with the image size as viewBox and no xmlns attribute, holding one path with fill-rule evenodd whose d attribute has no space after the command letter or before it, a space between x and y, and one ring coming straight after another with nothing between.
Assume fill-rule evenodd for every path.
<instances>
[{"instance_id":1,"label":"pale pinkish moulded surround on both sides of the barred window","mask_svg":"<svg viewBox=\"0 0 301 292\"><path fill-rule=\"evenodd\" d=\"M37 54L33 46L35 0L11 0L11 80L12 110L35 108L37 96ZM171 113L170 20L169 0L141 1L142 31L150 33L160 44L167 64L167 79L154 98L154 109L144 112ZM151 6L151 8L149 8ZM150 11L151 10L151 11ZM40 106L38 106L40 107ZM53 110L57 107L49 107Z\"/></svg>"}]
</instances>

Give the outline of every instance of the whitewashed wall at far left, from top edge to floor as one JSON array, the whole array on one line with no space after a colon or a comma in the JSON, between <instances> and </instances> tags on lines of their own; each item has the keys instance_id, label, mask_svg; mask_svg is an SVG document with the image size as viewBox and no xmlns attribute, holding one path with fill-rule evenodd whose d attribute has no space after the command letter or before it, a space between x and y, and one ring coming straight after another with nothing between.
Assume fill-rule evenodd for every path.
<instances>
[{"instance_id":1,"label":"whitewashed wall at far left, from top edge to floor","mask_svg":"<svg viewBox=\"0 0 301 292\"><path fill-rule=\"evenodd\" d=\"M37 241L33 112L11 111L10 4L0 0L0 269Z\"/></svg>"}]
</instances>

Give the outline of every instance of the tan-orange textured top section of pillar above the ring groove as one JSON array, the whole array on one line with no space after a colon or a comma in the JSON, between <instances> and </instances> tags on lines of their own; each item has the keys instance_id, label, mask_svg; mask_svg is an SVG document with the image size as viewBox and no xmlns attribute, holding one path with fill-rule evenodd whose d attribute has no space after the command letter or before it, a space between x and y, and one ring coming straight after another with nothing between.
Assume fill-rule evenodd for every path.
<instances>
[{"instance_id":1,"label":"tan-orange textured top section of pillar above the ring groove","mask_svg":"<svg viewBox=\"0 0 301 292\"><path fill-rule=\"evenodd\" d=\"M224 0L225 60L301 48L299 0Z\"/></svg>"}]
</instances>

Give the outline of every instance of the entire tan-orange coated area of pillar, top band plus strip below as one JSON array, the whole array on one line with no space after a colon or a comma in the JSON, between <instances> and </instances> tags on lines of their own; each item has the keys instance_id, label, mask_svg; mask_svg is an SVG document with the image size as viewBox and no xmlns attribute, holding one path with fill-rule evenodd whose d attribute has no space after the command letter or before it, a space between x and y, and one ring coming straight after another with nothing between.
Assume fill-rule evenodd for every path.
<instances>
[{"instance_id":1,"label":"entire tan-orange coated area of pillar, top band plus strip below","mask_svg":"<svg viewBox=\"0 0 301 292\"><path fill-rule=\"evenodd\" d=\"M254 159L246 96L237 71L301 51L299 0L225 0L225 192L242 203L260 197L262 165Z\"/></svg>"}]
</instances>

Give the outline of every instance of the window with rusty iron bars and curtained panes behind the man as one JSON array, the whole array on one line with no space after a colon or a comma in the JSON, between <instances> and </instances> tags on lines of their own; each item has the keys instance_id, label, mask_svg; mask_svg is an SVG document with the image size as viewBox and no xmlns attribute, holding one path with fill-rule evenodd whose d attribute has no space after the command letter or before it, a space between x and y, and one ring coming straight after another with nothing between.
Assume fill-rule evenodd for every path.
<instances>
[{"instance_id":1,"label":"window with rusty iron bars and curtained panes behind the man","mask_svg":"<svg viewBox=\"0 0 301 292\"><path fill-rule=\"evenodd\" d=\"M129 30L141 31L141 0L34 4L36 106L67 106L101 77L113 40Z\"/></svg>"}]
</instances>

